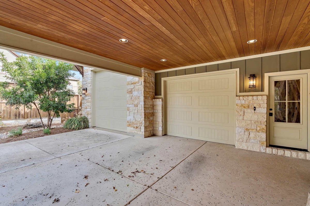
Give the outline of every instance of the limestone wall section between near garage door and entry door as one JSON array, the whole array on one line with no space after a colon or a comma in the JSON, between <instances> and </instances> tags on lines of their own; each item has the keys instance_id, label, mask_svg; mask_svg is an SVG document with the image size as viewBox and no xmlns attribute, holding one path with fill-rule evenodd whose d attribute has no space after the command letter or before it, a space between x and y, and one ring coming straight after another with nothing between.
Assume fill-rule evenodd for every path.
<instances>
[{"instance_id":1,"label":"limestone wall section between near garage door and entry door","mask_svg":"<svg viewBox=\"0 0 310 206\"><path fill-rule=\"evenodd\" d=\"M266 118L266 95L236 97L236 148L266 152Z\"/></svg>"}]
</instances>

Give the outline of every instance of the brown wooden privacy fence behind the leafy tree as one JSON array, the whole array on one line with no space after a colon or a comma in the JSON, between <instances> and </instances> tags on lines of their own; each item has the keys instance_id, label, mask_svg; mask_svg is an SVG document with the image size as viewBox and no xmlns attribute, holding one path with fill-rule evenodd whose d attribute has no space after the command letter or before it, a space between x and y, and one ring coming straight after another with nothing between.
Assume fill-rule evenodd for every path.
<instances>
[{"instance_id":1,"label":"brown wooden privacy fence behind the leafy tree","mask_svg":"<svg viewBox=\"0 0 310 206\"><path fill-rule=\"evenodd\" d=\"M79 108L82 106L82 95L74 95L68 104L74 103L75 108L73 112L61 113L61 122L63 118L74 117L79 112ZM0 102L0 116L2 120L22 120L22 119L34 119L40 118L37 108L33 105L32 109L27 109L25 106L15 109L15 106L5 105L6 101ZM42 117L47 117L47 112L40 111Z\"/></svg>"}]
</instances>

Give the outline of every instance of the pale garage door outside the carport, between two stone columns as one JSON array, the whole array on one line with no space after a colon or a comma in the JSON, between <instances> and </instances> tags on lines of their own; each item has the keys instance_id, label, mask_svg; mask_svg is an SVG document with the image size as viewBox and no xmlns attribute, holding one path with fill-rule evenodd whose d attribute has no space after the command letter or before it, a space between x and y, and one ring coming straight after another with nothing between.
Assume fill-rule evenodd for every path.
<instances>
[{"instance_id":1,"label":"pale garage door outside the carport, between two stone columns","mask_svg":"<svg viewBox=\"0 0 310 206\"><path fill-rule=\"evenodd\" d=\"M111 72L95 75L96 127L127 131L127 76Z\"/></svg>"}]
</instances>

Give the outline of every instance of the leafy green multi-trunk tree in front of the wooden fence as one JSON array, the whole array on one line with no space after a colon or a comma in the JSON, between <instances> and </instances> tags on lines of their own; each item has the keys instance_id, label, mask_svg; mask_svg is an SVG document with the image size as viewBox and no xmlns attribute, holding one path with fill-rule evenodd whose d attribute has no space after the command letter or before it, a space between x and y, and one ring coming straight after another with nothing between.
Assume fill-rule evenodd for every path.
<instances>
[{"instance_id":1,"label":"leafy green multi-trunk tree in front of the wooden fence","mask_svg":"<svg viewBox=\"0 0 310 206\"><path fill-rule=\"evenodd\" d=\"M0 53L2 70L7 72L6 78L14 82L0 82L0 98L7 105L15 105L16 109L36 107L41 123L45 128L40 110L47 112L47 128L51 128L53 118L60 117L62 112L72 112L74 104L67 104L73 97L73 91L67 88L71 64L41 57L21 55L14 62L8 62Z\"/></svg>"}]
</instances>

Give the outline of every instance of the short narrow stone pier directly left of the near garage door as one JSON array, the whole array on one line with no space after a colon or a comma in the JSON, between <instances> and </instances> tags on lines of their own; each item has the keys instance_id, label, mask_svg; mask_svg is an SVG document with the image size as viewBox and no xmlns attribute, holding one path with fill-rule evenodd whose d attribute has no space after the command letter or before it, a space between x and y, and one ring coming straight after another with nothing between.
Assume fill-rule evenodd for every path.
<instances>
[{"instance_id":1,"label":"short narrow stone pier directly left of the near garage door","mask_svg":"<svg viewBox=\"0 0 310 206\"><path fill-rule=\"evenodd\" d=\"M153 99L154 100L154 135L162 136L162 125L163 125L163 115L162 115L162 98Z\"/></svg>"}]
</instances>

